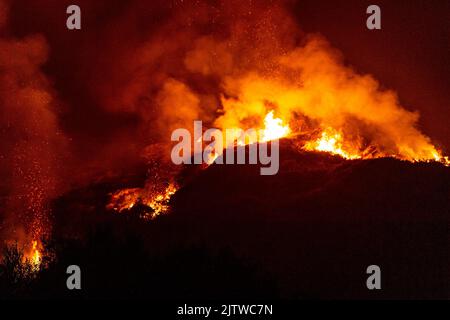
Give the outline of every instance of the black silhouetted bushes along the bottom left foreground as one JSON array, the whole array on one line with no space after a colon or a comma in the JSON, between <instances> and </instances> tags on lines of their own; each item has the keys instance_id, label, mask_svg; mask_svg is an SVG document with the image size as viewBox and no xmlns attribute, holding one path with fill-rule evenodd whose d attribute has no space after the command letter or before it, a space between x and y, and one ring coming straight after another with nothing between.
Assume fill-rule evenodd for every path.
<instances>
[{"instance_id":1,"label":"black silhouetted bushes along the bottom left foreground","mask_svg":"<svg viewBox=\"0 0 450 320\"><path fill-rule=\"evenodd\" d=\"M108 228L86 240L52 239L46 251L55 259L36 276L21 264L22 253L11 247L5 256L0 287L3 298L250 298L275 295L270 279L223 249L202 246L148 250L136 236L117 238ZM82 290L68 290L66 268L79 265Z\"/></svg>"}]
</instances>

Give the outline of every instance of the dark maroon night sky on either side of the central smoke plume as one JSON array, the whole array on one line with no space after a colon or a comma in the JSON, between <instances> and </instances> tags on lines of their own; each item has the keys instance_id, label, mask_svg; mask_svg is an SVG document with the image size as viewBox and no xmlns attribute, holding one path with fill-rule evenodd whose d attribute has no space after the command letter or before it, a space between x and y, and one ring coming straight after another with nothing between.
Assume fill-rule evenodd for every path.
<instances>
[{"instance_id":1,"label":"dark maroon night sky on either side of the central smoke plume","mask_svg":"<svg viewBox=\"0 0 450 320\"><path fill-rule=\"evenodd\" d=\"M95 56L108 61L105 42L123 45L126 25L117 24L117 39L102 38L102 30L114 29L117 17L127 14L128 1L77 1L82 7L83 30L68 32L65 8L74 1L15 1L10 18L14 35L43 33L51 48L45 71L67 104L62 125L69 136L108 139L104 128L133 126L132 115L106 113L86 92L91 74L79 62ZM172 1L175 2L175 1ZM137 18L143 28L153 28L164 10L151 1L141 4ZM365 10L378 4L382 30L366 29ZM319 32L340 49L346 62L362 73L373 74L386 88L398 92L403 106L418 110L420 126L435 144L450 149L450 2L300 0L292 4L299 25ZM158 11L160 10L160 11ZM145 15L148 19L145 19ZM139 37L139 35L136 35ZM103 57L103 58L102 58ZM74 107L76 104L76 107ZM99 119L101 123L99 124Z\"/></svg>"}]
</instances>

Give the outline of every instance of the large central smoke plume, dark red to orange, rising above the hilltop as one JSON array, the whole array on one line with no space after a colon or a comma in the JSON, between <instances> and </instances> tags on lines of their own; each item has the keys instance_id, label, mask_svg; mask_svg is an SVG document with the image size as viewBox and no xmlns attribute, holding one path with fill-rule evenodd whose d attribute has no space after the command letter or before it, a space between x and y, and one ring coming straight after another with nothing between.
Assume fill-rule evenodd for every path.
<instances>
[{"instance_id":1,"label":"large central smoke plume, dark red to orange, rising above the hilltop","mask_svg":"<svg viewBox=\"0 0 450 320\"><path fill-rule=\"evenodd\" d=\"M195 119L222 129L258 127L275 110L298 133L339 132L353 153L438 157L417 129L418 113L346 66L322 36L303 33L289 2L176 2L153 8L164 17L159 25L129 27L142 22L142 6L133 2L115 21L119 38L129 40L119 48L107 41L114 65L98 61L102 76L89 87L104 110L136 115L144 140L167 143L172 130Z\"/></svg>"}]
</instances>

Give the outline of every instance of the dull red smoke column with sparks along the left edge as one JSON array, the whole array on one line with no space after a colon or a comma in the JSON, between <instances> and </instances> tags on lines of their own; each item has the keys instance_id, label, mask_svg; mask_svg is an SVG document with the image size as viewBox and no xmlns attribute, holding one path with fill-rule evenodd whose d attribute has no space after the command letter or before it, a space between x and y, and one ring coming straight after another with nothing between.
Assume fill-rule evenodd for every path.
<instances>
[{"instance_id":1,"label":"dull red smoke column with sparks along the left edge","mask_svg":"<svg viewBox=\"0 0 450 320\"><path fill-rule=\"evenodd\" d=\"M8 6L0 1L0 128L2 231L6 240L31 241L49 231L49 200L58 194L65 138L59 102L41 71L43 36L7 36Z\"/></svg>"}]
</instances>

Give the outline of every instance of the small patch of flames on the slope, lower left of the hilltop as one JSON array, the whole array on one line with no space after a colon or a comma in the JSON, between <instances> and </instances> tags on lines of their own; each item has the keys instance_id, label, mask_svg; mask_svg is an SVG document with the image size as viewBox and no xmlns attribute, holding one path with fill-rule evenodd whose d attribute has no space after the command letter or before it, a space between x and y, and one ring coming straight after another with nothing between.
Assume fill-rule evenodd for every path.
<instances>
[{"instance_id":1,"label":"small patch of flames on the slope, lower left of the hilltop","mask_svg":"<svg viewBox=\"0 0 450 320\"><path fill-rule=\"evenodd\" d=\"M122 189L111 195L111 200L106 208L122 213L131 210L137 204L141 204L151 208L151 212L144 213L142 217L152 220L169 211L168 202L176 192L177 187L174 183L169 183L162 193L153 195L148 195L145 188Z\"/></svg>"}]
</instances>

